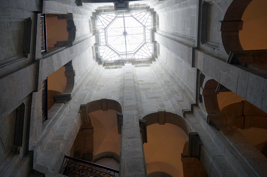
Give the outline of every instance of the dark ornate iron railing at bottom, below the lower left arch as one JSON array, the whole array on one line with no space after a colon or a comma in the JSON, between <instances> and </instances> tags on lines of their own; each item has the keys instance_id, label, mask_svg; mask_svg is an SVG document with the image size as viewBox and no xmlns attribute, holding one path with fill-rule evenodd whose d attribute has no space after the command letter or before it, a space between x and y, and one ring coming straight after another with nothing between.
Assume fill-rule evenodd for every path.
<instances>
[{"instance_id":1,"label":"dark ornate iron railing at bottom, below the lower left arch","mask_svg":"<svg viewBox=\"0 0 267 177\"><path fill-rule=\"evenodd\" d=\"M66 156L65 164L62 168L61 174L69 177L115 177L118 170L108 168L96 163L88 162L81 159Z\"/></svg>"}]
</instances>

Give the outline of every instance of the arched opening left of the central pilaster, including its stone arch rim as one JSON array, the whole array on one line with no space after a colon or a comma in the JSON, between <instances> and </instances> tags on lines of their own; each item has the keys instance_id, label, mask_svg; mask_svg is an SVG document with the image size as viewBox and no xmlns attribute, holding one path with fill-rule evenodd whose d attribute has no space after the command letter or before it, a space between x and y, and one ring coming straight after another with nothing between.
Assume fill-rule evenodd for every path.
<instances>
[{"instance_id":1,"label":"arched opening left of the central pilaster, including its stone arch rim","mask_svg":"<svg viewBox=\"0 0 267 177\"><path fill-rule=\"evenodd\" d=\"M121 105L115 100L101 99L84 106L88 120L83 120L70 155L119 170L121 135L118 131L117 112L122 112Z\"/></svg>"}]
</instances>

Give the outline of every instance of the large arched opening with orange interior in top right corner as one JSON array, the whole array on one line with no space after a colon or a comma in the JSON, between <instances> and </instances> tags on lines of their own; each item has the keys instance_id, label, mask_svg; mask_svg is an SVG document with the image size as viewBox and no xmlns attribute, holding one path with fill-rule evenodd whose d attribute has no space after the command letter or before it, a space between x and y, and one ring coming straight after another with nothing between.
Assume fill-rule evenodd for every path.
<instances>
[{"instance_id":1,"label":"large arched opening with orange interior in top right corner","mask_svg":"<svg viewBox=\"0 0 267 177\"><path fill-rule=\"evenodd\" d=\"M222 42L230 54L228 63L266 74L267 2L233 0L221 25Z\"/></svg>"}]
</instances>

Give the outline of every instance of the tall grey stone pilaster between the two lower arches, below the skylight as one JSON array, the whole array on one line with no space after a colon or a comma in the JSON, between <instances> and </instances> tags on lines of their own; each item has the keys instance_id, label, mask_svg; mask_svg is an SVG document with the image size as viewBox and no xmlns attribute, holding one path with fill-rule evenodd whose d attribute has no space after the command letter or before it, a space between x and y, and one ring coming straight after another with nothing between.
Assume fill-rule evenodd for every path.
<instances>
[{"instance_id":1,"label":"tall grey stone pilaster between the two lower arches, below the skylight","mask_svg":"<svg viewBox=\"0 0 267 177\"><path fill-rule=\"evenodd\" d=\"M120 176L145 176L142 139L139 128L139 118L135 87L133 81L133 66L124 67L123 96L123 126L121 131Z\"/></svg>"}]
</instances>

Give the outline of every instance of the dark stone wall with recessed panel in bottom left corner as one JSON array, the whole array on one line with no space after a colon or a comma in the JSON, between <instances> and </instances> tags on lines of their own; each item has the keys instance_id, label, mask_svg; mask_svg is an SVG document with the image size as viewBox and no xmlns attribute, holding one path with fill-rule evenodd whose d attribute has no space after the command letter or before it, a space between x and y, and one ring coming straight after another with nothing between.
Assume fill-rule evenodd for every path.
<instances>
[{"instance_id":1,"label":"dark stone wall with recessed panel in bottom left corner","mask_svg":"<svg viewBox=\"0 0 267 177\"><path fill-rule=\"evenodd\" d=\"M28 153L30 100L31 95L28 95L18 108L0 120L1 176L27 176L32 169L31 156Z\"/></svg>"}]
</instances>

